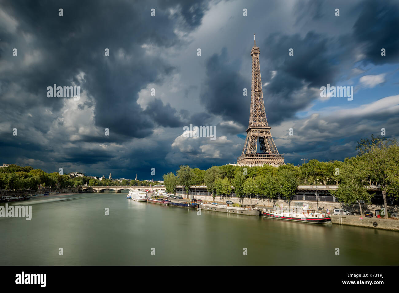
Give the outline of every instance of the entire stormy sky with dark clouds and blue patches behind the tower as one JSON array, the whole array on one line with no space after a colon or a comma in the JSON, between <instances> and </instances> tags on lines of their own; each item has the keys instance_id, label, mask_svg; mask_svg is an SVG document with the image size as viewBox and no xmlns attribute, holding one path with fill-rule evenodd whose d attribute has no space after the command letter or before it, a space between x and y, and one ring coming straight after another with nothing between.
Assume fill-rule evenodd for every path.
<instances>
[{"instance_id":1,"label":"entire stormy sky with dark clouds and blue patches behind the tower","mask_svg":"<svg viewBox=\"0 0 399 293\"><path fill-rule=\"evenodd\" d=\"M2 0L0 163L141 180L235 163L253 33L285 162L342 160L381 128L399 136L398 32L393 0ZM48 97L53 84L79 86L79 100ZM327 84L353 100L320 97ZM185 137L190 124L215 126L216 140Z\"/></svg>"}]
</instances>

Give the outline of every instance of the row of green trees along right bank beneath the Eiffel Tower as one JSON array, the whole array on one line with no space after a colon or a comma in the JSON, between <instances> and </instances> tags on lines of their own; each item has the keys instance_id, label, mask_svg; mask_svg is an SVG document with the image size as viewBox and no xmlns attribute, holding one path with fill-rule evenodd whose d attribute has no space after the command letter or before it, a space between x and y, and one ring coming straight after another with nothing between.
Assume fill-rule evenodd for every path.
<instances>
[{"instance_id":1,"label":"row of green trees along right bank beneath the Eiffel Tower","mask_svg":"<svg viewBox=\"0 0 399 293\"><path fill-rule=\"evenodd\" d=\"M193 185L206 185L213 196L230 195L234 188L237 197L282 197L288 202L295 195L298 185L338 185L332 191L346 204L364 201L370 203L373 193L367 186L378 186L387 208L386 196L399 195L399 146L395 139L371 136L361 139L356 147L358 155L344 161L319 162L310 160L301 166L292 164L279 167L263 166L212 166L207 170L180 166L176 174L164 174L168 193L182 185L186 193ZM360 206L361 209L361 206Z\"/></svg>"}]
</instances>

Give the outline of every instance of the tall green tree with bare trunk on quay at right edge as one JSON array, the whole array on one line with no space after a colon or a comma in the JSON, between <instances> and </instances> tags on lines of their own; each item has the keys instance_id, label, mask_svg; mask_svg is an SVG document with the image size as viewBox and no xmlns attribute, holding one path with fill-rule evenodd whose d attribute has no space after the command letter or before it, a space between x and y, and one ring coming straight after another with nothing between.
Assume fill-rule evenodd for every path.
<instances>
[{"instance_id":1,"label":"tall green tree with bare trunk on quay at right edge","mask_svg":"<svg viewBox=\"0 0 399 293\"><path fill-rule=\"evenodd\" d=\"M358 142L359 154L365 162L368 178L381 189L384 208L387 211L387 197L399 195L399 146L396 139L386 139L371 135L371 140ZM388 213L385 213L388 218Z\"/></svg>"}]
</instances>

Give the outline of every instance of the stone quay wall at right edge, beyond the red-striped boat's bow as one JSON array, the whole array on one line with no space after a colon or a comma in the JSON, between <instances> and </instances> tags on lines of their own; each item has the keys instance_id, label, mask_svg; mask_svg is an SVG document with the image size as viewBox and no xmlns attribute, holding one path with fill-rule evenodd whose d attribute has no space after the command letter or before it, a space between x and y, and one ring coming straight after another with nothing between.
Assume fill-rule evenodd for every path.
<instances>
[{"instance_id":1,"label":"stone quay wall at right edge, beyond the red-striped boat's bow","mask_svg":"<svg viewBox=\"0 0 399 293\"><path fill-rule=\"evenodd\" d=\"M383 218L365 218L359 220L360 216L334 216L331 215L333 224L369 227L374 229L385 229L399 231L399 220Z\"/></svg>"}]
</instances>

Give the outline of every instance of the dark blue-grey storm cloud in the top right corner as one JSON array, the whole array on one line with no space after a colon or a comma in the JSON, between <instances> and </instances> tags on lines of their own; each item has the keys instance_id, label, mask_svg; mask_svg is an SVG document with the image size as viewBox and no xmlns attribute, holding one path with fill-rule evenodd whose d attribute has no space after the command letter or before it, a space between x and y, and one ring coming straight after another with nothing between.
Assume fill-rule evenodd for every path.
<instances>
[{"instance_id":1,"label":"dark blue-grey storm cloud in the top right corner","mask_svg":"<svg viewBox=\"0 0 399 293\"><path fill-rule=\"evenodd\" d=\"M367 0L359 9L353 37L363 46L365 61L378 65L399 62L399 2ZM385 56L381 56L382 48Z\"/></svg>"}]
</instances>

